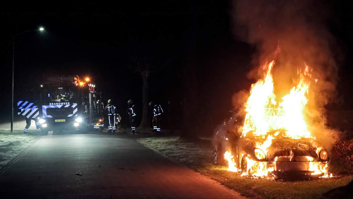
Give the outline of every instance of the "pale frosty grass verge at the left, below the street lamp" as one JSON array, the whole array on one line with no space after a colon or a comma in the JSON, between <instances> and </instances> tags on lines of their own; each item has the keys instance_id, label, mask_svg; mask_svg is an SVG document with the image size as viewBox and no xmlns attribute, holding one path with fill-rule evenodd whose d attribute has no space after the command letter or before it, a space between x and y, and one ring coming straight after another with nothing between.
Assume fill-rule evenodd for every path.
<instances>
[{"instance_id":1,"label":"pale frosty grass verge at the left, below the street lamp","mask_svg":"<svg viewBox=\"0 0 353 199\"><path fill-rule=\"evenodd\" d=\"M23 129L14 129L13 133L0 129L0 168L38 140L39 135L40 130L29 129L28 134L23 134Z\"/></svg>"}]
</instances>

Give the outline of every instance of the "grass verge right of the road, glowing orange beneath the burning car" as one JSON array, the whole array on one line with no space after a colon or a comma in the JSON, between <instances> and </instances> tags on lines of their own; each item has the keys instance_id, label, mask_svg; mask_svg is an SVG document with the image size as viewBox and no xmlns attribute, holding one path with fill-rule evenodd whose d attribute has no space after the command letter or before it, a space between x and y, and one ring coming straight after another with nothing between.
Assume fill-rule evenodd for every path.
<instances>
[{"instance_id":1,"label":"grass verge right of the road, glowing orange beneath the burning car","mask_svg":"<svg viewBox=\"0 0 353 199\"><path fill-rule=\"evenodd\" d=\"M322 198L323 193L336 187L345 186L353 180L353 175L295 182L245 178L227 171L225 166L214 165L211 148L197 146L192 142L179 139L178 136L148 137L140 138L138 141L251 198Z\"/></svg>"}]
</instances>

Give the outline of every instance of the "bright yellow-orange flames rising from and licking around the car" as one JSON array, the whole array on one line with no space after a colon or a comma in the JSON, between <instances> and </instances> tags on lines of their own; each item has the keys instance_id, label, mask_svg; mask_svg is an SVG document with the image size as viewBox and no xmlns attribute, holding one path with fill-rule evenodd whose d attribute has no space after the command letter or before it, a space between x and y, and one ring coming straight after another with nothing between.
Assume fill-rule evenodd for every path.
<instances>
[{"instance_id":1,"label":"bright yellow-orange flames rising from and licking around the car","mask_svg":"<svg viewBox=\"0 0 353 199\"><path fill-rule=\"evenodd\" d=\"M284 95L280 101L276 99L274 94L274 81L272 69L275 60L266 63L263 66L264 77L251 85L250 95L245 103L245 121L242 127L243 137L259 137L265 138L263 142L257 142L255 155L258 159L265 158L268 148L272 144L272 140L281 132L282 137L290 139L312 138L305 121L304 112L307 109L310 83L317 82L313 79L310 72L312 69L305 64L304 70L298 69L298 80L296 85L288 90L288 94ZM277 131L274 135L270 135L270 131ZM318 151L320 149L318 148ZM317 151L317 153L318 153ZM240 159L245 157L247 170L241 171L239 166L234 163L233 156L230 152L225 153L225 159L228 160L228 170L233 172L241 171L241 176L250 176L256 178L270 178L271 171L276 168L275 162L269 164L267 162L257 162L250 159L246 154L240 154ZM332 177L327 172L327 164L314 162L314 158L307 156L309 171L312 174L322 174L323 177ZM237 168L238 167L238 168Z\"/></svg>"}]
</instances>

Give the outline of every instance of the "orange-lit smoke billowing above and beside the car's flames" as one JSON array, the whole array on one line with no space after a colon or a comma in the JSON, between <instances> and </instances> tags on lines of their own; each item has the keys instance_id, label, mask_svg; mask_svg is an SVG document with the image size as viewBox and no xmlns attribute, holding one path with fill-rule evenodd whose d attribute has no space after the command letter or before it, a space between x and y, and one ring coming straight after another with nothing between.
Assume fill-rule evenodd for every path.
<instances>
[{"instance_id":1,"label":"orange-lit smoke billowing above and beside the car's flames","mask_svg":"<svg viewBox=\"0 0 353 199\"><path fill-rule=\"evenodd\" d=\"M277 100L288 94L298 69L307 64L317 78L309 91L307 121L309 130L326 148L337 140L337 133L324 125L324 106L335 99L337 66L333 56L334 39L326 27L328 9L321 1L237 0L233 1L233 33L237 39L256 46L254 69L248 76L263 77L259 66L276 60L273 69ZM233 98L240 108L237 96ZM238 101L237 101L238 100ZM244 103L245 101L243 101Z\"/></svg>"}]
</instances>

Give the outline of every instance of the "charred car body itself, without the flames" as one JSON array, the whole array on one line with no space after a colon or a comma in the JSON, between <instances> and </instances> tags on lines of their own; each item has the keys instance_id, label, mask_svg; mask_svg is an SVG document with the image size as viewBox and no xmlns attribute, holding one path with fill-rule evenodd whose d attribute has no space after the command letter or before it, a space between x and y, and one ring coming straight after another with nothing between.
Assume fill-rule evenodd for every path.
<instances>
[{"instance_id":1,"label":"charred car body itself, without the flames","mask_svg":"<svg viewBox=\"0 0 353 199\"><path fill-rule=\"evenodd\" d=\"M217 128L213 137L214 163L225 164L224 154L231 152L239 170L246 171L245 157L257 162L267 162L274 167L272 172L282 179L307 179L320 177L324 174L313 175L310 171L310 162L327 164L329 157L323 146L313 138L290 139L284 130L275 130L267 136L276 133L267 152L257 148L257 143L263 143L267 137L242 136L238 129L241 119L229 119ZM262 153L261 156L258 153ZM261 157L261 158L259 158ZM311 158L307 158L311 157Z\"/></svg>"}]
</instances>

